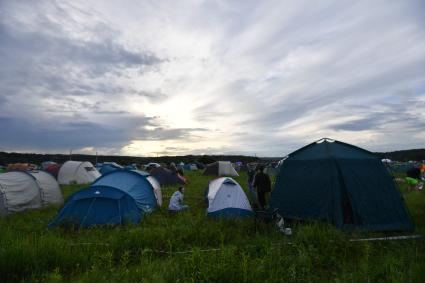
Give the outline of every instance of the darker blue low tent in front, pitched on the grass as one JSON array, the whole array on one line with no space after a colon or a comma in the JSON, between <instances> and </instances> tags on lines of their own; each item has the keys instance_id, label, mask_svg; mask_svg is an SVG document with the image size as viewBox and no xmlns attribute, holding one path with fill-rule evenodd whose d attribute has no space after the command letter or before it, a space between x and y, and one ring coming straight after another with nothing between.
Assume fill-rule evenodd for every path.
<instances>
[{"instance_id":1,"label":"darker blue low tent in front, pitched on the grass","mask_svg":"<svg viewBox=\"0 0 425 283\"><path fill-rule=\"evenodd\" d=\"M117 188L95 186L71 195L49 227L60 224L79 227L137 224L140 220L140 210L128 193Z\"/></svg>"}]
</instances>

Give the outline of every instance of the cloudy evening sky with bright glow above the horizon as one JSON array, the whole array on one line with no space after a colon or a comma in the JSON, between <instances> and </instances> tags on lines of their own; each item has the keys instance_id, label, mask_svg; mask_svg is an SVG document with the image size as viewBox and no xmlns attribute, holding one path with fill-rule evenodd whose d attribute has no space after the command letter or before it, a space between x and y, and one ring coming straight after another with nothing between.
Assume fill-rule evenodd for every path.
<instances>
[{"instance_id":1,"label":"cloudy evening sky with bright glow above the horizon","mask_svg":"<svg viewBox=\"0 0 425 283\"><path fill-rule=\"evenodd\" d=\"M425 147L425 1L0 0L0 151Z\"/></svg>"}]
</instances>

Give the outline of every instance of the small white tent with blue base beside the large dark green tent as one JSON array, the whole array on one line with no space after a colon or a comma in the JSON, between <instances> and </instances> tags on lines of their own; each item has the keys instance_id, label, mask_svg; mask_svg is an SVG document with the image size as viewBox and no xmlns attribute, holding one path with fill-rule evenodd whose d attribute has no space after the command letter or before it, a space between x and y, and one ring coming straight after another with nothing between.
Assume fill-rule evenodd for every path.
<instances>
[{"instance_id":1,"label":"small white tent with blue base beside the large dark green tent","mask_svg":"<svg viewBox=\"0 0 425 283\"><path fill-rule=\"evenodd\" d=\"M241 186L232 178L222 177L210 182L208 186L208 216L241 217L252 215Z\"/></svg>"}]
</instances>

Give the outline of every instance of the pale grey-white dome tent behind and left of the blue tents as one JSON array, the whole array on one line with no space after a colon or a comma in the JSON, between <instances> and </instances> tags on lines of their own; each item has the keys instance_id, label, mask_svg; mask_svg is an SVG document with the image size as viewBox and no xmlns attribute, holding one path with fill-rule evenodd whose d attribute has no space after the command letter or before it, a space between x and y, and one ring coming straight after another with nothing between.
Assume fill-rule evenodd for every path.
<instances>
[{"instance_id":1,"label":"pale grey-white dome tent behind and left of the blue tents","mask_svg":"<svg viewBox=\"0 0 425 283\"><path fill-rule=\"evenodd\" d=\"M89 184L99 178L99 171L88 161L67 161L58 174L58 182L61 185Z\"/></svg>"}]
</instances>

